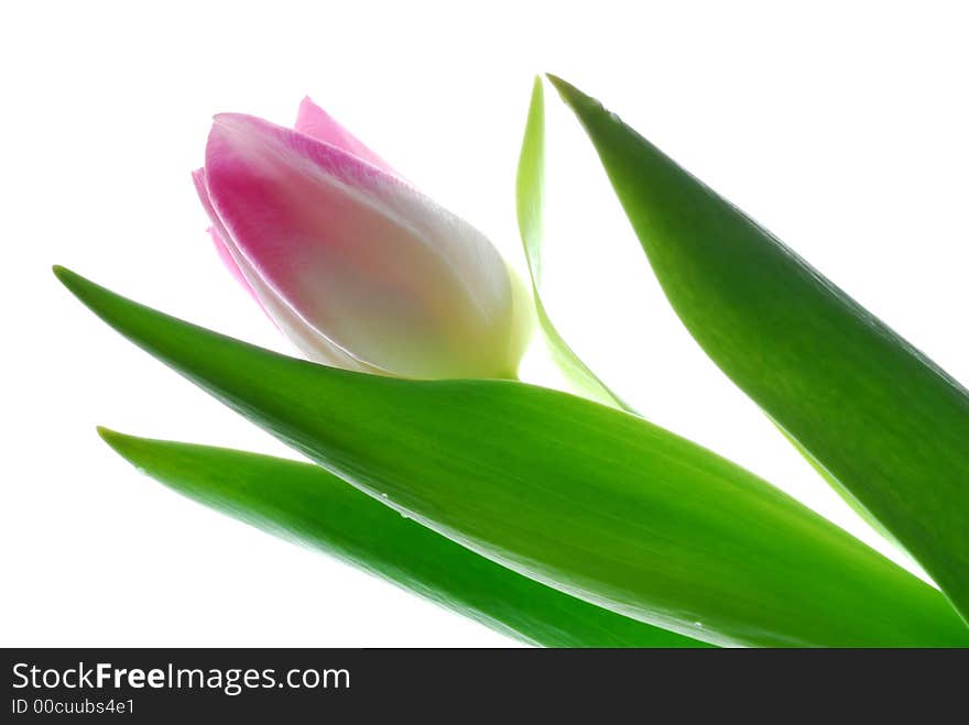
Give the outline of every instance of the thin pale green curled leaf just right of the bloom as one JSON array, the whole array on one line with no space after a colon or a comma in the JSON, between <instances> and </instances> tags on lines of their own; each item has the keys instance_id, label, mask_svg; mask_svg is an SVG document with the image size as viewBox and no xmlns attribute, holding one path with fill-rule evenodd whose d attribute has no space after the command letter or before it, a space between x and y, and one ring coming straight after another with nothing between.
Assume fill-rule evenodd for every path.
<instances>
[{"instance_id":1,"label":"thin pale green curled leaf just right of the bloom","mask_svg":"<svg viewBox=\"0 0 969 725\"><path fill-rule=\"evenodd\" d=\"M545 101L542 79L535 78L532 87L532 101L529 106L529 119L525 122L525 136L522 141L522 153L519 156L519 173L515 183L515 201L519 218L519 232L529 262L532 277L532 296L538 327L545 337L548 352L576 392L588 398L631 410L610 391L596 374L573 351L559 334L545 305L542 301L542 220L545 205Z\"/></svg>"}]
</instances>

